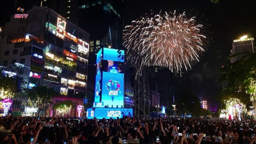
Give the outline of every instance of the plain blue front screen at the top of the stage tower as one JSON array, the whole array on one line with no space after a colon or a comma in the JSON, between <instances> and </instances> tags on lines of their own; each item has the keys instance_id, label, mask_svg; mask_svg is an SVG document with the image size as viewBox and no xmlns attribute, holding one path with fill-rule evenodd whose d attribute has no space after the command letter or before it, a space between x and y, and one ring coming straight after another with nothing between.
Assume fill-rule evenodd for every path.
<instances>
[{"instance_id":1,"label":"plain blue front screen at the top of the stage tower","mask_svg":"<svg viewBox=\"0 0 256 144\"><path fill-rule=\"evenodd\" d=\"M116 49L104 48L103 60L124 62L124 50L119 50L119 53L117 51L118 50ZM97 54L97 61L98 61L98 54Z\"/></svg>"}]
</instances>

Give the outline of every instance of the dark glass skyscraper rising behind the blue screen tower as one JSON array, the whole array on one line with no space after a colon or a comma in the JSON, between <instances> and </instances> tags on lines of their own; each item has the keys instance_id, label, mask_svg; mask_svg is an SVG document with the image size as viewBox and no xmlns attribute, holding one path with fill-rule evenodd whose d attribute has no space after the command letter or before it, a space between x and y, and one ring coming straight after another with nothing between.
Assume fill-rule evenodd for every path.
<instances>
[{"instance_id":1,"label":"dark glass skyscraper rising behind the blue screen tower","mask_svg":"<svg viewBox=\"0 0 256 144\"><path fill-rule=\"evenodd\" d=\"M89 68L95 69L95 53L100 46L120 48L123 44L122 0L79 0L77 25L90 34ZM88 72L88 82L95 82L95 71Z\"/></svg>"}]
</instances>

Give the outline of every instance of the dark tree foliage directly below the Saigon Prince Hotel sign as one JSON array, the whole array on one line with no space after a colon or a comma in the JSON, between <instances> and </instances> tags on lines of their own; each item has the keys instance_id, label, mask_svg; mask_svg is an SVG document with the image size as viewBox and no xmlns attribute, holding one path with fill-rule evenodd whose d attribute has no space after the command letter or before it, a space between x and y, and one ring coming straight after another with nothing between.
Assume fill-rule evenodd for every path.
<instances>
[{"instance_id":1,"label":"dark tree foliage directly below the Saigon Prince Hotel sign","mask_svg":"<svg viewBox=\"0 0 256 144\"><path fill-rule=\"evenodd\" d=\"M255 87L251 86L256 80L256 53L242 52L231 55L234 58L242 55L240 60L230 63L221 69L220 84L227 84L224 92L255 92Z\"/></svg>"}]
</instances>

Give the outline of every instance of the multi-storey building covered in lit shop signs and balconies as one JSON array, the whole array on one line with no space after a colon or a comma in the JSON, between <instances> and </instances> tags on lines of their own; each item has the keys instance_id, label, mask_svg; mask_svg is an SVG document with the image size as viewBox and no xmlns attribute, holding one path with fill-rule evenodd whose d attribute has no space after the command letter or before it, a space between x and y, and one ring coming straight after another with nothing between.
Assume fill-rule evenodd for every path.
<instances>
[{"instance_id":1,"label":"multi-storey building covered in lit shop signs and balconies","mask_svg":"<svg viewBox=\"0 0 256 144\"><path fill-rule=\"evenodd\" d=\"M0 64L17 73L16 67L28 67L23 74L28 88L43 84L61 95L84 97L89 34L47 7L34 6L24 14L27 18L12 15L3 27Z\"/></svg>"}]
</instances>

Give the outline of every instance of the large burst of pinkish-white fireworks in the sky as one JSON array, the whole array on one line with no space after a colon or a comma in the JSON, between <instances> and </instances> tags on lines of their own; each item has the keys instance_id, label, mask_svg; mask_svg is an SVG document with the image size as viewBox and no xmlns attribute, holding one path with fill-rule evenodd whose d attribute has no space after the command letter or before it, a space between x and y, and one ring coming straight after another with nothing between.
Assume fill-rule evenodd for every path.
<instances>
[{"instance_id":1,"label":"large burst of pinkish-white fireworks in the sky","mask_svg":"<svg viewBox=\"0 0 256 144\"><path fill-rule=\"evenodd\" d=\"M167 13L146 14L124 30L124 46L128 60L139 66L137 74L144 66L168 67L172 72L180 73L199 61L199 54L204 52L200 34L202 25L196 25L195 17L186 18Z\"/></svg>"}]
</instances>

